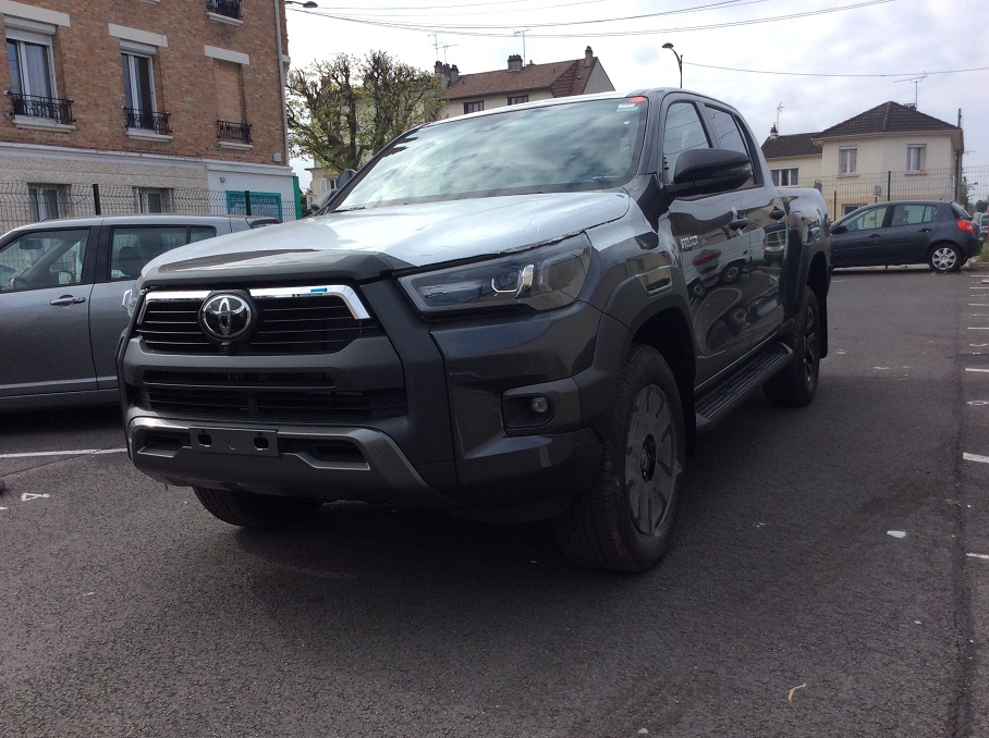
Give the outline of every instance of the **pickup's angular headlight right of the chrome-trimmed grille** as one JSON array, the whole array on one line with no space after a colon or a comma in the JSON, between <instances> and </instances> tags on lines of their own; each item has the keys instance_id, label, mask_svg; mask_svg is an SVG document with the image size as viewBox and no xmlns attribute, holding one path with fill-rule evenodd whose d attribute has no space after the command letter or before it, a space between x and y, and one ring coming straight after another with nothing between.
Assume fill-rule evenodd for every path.
<instances>
[{"instance_id":1,"label":"pickup's angular headlight right of the chrome-trimmed grille","mask_svg":"<svg viewBox=\"0 0 989 738\"><path fill-rule=\"evenodd\" d=\"M559 244L399 279L422 312L524 306L553 310L573 303L590 266L590 242Z\"/></svg>"}]
</instances>

